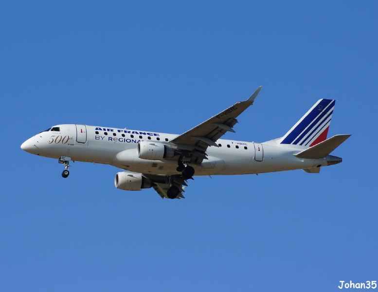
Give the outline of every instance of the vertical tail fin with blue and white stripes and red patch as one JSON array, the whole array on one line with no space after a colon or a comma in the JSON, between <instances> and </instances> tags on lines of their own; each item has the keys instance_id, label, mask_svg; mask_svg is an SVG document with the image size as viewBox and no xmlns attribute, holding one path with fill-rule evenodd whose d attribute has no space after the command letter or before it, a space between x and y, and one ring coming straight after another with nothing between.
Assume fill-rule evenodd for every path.
<instances>
[{"instance_id":1,"label":"vertical tail fin with blue and white stripes and red patch","mask_svg":"<svg viewBox=\"0 0 378 292\"><path fill-rule=\"evenodd\" d=\"M311 147L327 139L334 99L319 99L306 114L281 138L281 144Z\"/></svg>"}]
</instances>

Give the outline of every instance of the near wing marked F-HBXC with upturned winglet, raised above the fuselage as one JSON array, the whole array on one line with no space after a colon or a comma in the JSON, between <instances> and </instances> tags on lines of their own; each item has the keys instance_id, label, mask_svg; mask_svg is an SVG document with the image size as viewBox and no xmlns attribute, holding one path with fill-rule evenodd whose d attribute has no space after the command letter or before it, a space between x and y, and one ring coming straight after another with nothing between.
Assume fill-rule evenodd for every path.
<instances>
[{"instance_id":1,"label":"near wing marked F-HBXC with upturned winglet, raised above the fuselage","mask_svg":"<svg viewBox=\"0 0 378 292\"><path fill-rule=\"evenodd\" d=\"M220 137L227 131L235 132L233 127L237 123L236 117L253 104L261 89L262 86L257 88L249 99L234 104L169 142L176 144L178 150L189 151L190 156L196 156L195 162L201 163L203 159L206 159L205 152L208 146L218 147L215 142Z\"/></svg>"}]
</instances>

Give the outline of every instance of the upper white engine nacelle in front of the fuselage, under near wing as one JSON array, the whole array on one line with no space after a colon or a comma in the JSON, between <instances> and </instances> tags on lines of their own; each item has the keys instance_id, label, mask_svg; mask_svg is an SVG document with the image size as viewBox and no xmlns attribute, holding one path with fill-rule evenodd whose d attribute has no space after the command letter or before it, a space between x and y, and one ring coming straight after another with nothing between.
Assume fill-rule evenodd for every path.
<instances>
[{"instance_id":1,"label":"upper white engine nacelle in front of the fuselage, under near wing","mask_svg":"<svg viewBox=\"0 0 378 292\"><path fill-rule=\"evenodd\" d=\"M159 160L175 156L175 150L162 143L141 141L138 143L138 157L148 160Z\"/></svg>"}]
</instances>

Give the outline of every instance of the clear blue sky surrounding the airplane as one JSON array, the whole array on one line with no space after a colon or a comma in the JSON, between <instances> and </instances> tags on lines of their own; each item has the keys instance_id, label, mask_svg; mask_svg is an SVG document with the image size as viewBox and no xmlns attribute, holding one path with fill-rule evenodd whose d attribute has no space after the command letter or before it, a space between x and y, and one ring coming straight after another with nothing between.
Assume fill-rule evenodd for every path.
<instances>
[{"instance_id":1,"label":"clear blue sky surrounding the airplane","mask_svg":"<svg viewBox=\"0 0 378 292\"><path fill-rule=\"evenodd\" d=\"M0 290L339 291L378 280L376 1L1 1ZM352 137L321 173L201 177L185 200L20 144L61 123L282 136L319 98Z\"/></svg>"}]
</instances>

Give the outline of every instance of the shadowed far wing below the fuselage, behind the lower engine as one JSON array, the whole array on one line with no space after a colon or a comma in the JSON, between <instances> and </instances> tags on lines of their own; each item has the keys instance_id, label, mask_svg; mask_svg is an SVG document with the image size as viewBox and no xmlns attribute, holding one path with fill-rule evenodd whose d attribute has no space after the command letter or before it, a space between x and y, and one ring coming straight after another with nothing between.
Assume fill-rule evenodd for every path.
<instances>
[{"instance_id":1,"label":"shadowed far wing below the fuselage, behind the lower engine","mask_svg":"<svg viewBox=\"0 0 378 292\"><path fill-rule=\"evenodd\" d=\"M167 191L170 187L170 184L176 185L180 189L180 194L177 196L177 199L185 198L182 193L185 192L185 187L187 184L181 175L152 175L152 174L143 174L146 178L150 179L153 182L154 190L159 194L162 199L168 198Z\"/></svg>"}]
</instances>

